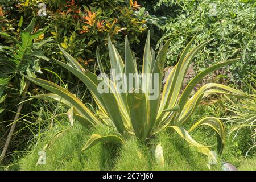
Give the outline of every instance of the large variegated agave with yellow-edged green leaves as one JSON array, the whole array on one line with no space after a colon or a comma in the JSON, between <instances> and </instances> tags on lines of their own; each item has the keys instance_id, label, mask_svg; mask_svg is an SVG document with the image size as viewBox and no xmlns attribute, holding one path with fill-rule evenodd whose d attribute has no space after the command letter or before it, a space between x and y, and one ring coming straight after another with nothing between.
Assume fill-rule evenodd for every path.
<instances>
[{"instance_id":1,"label":"large variegated agave with yellow-edged green leaves","mask_svg":"<svg viewBox=\"0 0 256 182\"><path fill-rule=\"evenodd\" d=\"M166 60L166 54L169 46L169 42L161 44L158 50L158 54L155 57L155 52L150 48L150 32L148 32L146 45L144 48L143 66L141 73L152 75L157 74L158 80L151 77L134 77L135 82L141 86L142 92L136 92L133 86L129 87L125 79L121 79L123 85L126 85L126 89L129 92L119 92L120 87L115 79L109 79L104 73L104 69L101 64L99 50L97 49L97 63L101 77L96 74L85 70L71 55L64 51L61 47L61 51L68 60L68 64L55 59L56 63L60 64L64 68L68 69L74 75L76 75L92 93L94 101L96 102L100 114L98 118L92 113L76 96L68 92L68 90L62 88L59 85L52 82L41 80L39 78L28 77L28 80L42 86L43 88L50 90L53 94L43 94L39 96L33 96L35 98L53 98L59 100L64 104L71 107L68 110L69 119L77 119L83 125L97 126L102 124L113 124L118 132L117 135L101 136L93 134L88 140L82 150L87 150L98 142L114 142L123 143L123 138L129 135L135 135L139 141L147 142L153 135L162 130L170 130L170 132L176 131L183 139L189 144L201 148L201 151L205 154L209 153L209 147L203 144L197 143L190 135L189 132L196 129L199 126L207 125L212 127L217 134L218 152L222 152L224 147L224 135L225 129L222 122L214 117L206 117L196 122L188 131L183 127L184 123L188 121L189 117L196 110L200 101L209 96L209 94L232 94L234 96L245 96L246 94L221 84L206 84L202 86L193 96L191 96L194 86L207 76L210 72L224 65L233 63L238 59L230 59L205 69L203 72L195 76L187 85L185 90L180 94L181 85L189 65L191 64L193 57L196 53L203 48L212 39L205 40L199 45L191 49L191 44L195 38L193 38L185 47L183 53L180 56L179 62L172 69L168 76L166 85L164 85L162 96L160 94L163 78L163 67ZM119 73L123 73L128 76L129 74L138 74L137 63L134 53L131 52L127 37L125 38L125 62L123 62L117 49L112 44L110 36L108 36L108 48L110 64L112 68L111 74L115 78ZM110 93L101 93L98 90L100 84L108 86ZM155 98L151 98L152 85L158 85L158 95ZM129 88L127 88L129 87Z\"/></svg>"}]
</instances>

